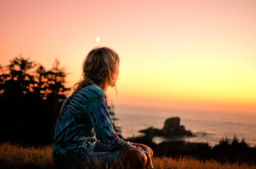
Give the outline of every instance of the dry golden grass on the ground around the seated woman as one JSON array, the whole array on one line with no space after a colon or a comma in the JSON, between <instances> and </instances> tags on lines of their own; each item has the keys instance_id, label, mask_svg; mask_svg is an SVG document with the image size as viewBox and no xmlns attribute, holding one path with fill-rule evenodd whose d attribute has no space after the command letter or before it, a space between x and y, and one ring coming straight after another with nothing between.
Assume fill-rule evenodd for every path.
<instances>
[{"instance_id":1,"label":"dry golden grass on the ground around the seated woman","mask_svg":"<svg viewBox=\"0 0 256 169\"><path fill-rule=\"evenodd\" d=\"M56 169L52 161L52 147L22 147L17 145L12 145L9 143L0 144L0 168L49 168ZM199 161L193 158L154 158L154 167L156 169L183 169L183 168L256 168L256 165L248 164L229 164L229 163L218 163L215 160ZM91 167L90 167L91 168ZM93 168L113 168L111 166L94 166ZM115 167L116 168L116 167ZM118 167L122 168L122 167Z\"/></svg>"}]
</instances>

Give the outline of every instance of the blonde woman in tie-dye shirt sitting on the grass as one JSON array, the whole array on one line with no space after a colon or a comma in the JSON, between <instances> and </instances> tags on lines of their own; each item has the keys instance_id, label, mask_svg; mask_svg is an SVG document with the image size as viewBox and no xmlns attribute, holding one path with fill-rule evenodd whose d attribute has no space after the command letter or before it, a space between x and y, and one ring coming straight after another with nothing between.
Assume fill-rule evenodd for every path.
<instances>
[{"instance_id":1,"label":"blonde woman in tie-dye shirt sitting on the grass","mask_svg":"<svg viewBox=\"0 0 256 169\"><path fill-rule=\"evenodd\" d=\"M100 162L153 168L152 150L131 144L116 134L105 91L116 86L119 56L107 47L94 48L83 62L82 80L62 104L55 128L53 160L61 167Z\"/></svg>"}]
</instances>

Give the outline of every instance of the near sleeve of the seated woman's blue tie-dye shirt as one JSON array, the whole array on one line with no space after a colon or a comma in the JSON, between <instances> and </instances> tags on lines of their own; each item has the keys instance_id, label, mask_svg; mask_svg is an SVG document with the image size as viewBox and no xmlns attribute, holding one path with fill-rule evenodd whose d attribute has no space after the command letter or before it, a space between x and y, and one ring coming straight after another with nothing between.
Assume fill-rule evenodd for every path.
<instances>
[{"instance_id":1,"label":"near sleeve of the seated woman's blue tie-dye shirt","mask_svg":"<svg viewBox=\"0 0 256 169\"><path fill-rule=\"evenodd\" d=\"M92 117L90 121L96 133L96 138L99 139L101 143L105 144L109 151L136 148L119 138L116 134L109 115L105 95L99 94L91 101L90 111Z\"/></svg>"}]
</instances>

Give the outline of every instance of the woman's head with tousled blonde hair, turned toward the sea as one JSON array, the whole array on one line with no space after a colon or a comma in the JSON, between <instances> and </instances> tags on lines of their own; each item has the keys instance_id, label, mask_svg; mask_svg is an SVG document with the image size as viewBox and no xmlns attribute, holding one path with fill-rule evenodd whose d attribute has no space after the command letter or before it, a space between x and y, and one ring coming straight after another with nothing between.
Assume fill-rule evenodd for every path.
<instances>
[{"instance_id":1,"label":"woman's head with tousled blonde hair, turned toward the sea","mask_svg":"<svg viewBox=\"0 0 256 169\"><path fill-rule=\"evenodd\" d=\"M75 84L74 90L79 91L94 83L101 87L105 82L115 87L119 63L119 56L113 49L93 48L83 61L81 80Z\"/></svg>"}]
</instances>

